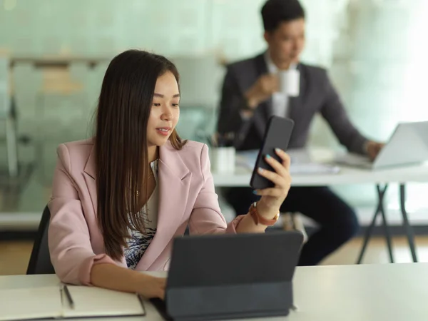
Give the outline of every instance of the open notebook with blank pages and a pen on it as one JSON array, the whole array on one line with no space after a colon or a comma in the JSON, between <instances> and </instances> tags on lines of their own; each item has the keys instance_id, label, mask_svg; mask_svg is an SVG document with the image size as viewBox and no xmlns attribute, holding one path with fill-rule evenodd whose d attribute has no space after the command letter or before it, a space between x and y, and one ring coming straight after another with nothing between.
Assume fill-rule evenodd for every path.
<instances>
[{"instance_id":1,"label":"open notebook with blank pages and a pen on it","mask_svg":"<svg viewBox=\"0 0 428 321\"><path fill-rule=\"evenodd\" d=\"M0 320L146 315L141 297L100 287L62 285L0 290Z\"/></svg>"}]
</instances>

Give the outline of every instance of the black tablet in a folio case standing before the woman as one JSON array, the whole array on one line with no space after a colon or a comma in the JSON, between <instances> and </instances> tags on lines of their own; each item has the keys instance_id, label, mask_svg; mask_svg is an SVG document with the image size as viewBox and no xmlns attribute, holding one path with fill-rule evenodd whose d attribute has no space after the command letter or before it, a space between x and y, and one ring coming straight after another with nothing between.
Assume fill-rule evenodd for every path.
<instances>
[{"instance_id":1,"label":"black tablet in a folio case standing before the woman","mask_svg":"<svg viewBox=\"0 0 428 321\"><path fill-rule=\"evenodd\" d=\"M173 243L165 320L225 320L288 315L303 235L297 231L198 235Z\"/></svg>"}]
</instances>

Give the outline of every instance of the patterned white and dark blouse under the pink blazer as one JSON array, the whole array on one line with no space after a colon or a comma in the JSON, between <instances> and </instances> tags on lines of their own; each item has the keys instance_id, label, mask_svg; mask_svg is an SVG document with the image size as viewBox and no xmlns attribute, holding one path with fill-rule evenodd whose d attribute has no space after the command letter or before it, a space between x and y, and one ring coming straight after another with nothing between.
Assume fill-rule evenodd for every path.
<instances>
[{"instance_id":1,"label":"patterned white and dark blouse under the pink blazer","mask_svg":"<svg viewBox=\"0 0 428 321\"><path fill-rule=\"evenodd\" d=\"M148 245L150 245L156 234L156 229L158 228L158 160L151 162L150 165L156 181L156 187L146 205L144 205L140 213L138 213L141 219L144 220L146 233L142 234L136 230L128 229L128 233L131 236L126 240L128 247L124 250L126 265L128 265L128 268L132 270L135 269L138 262L140 262L148 248Z\"/></svg>"}]
</instances>

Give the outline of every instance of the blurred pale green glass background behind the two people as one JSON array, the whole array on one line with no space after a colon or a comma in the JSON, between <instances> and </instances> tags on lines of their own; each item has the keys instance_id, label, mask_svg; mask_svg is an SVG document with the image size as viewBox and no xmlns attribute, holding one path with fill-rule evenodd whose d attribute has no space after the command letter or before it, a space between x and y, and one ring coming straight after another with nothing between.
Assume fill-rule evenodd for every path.
<instances>
[{"instance_id":1,"label":"blurred pale green glass background behind the two people","mask_svg":"<svg viewBox=\"0 0 428 321\"><path fill-rule=\"evenodd\" d=\"M265 49L263 0L0 0L0 57L11 74L19 163L24 174L0 176L0 220L34 217L49 200L58 143L91 136L91 116L109 59L131 49L171 58L182 74L179 131L203 141L214 130L224 63ZM302 0L307 46L302 61L330 71L355 124L386 140L398 121L428 118L426 0ZM37 63L68 61L65 65ZM0 71L0 78L10 75ZM1 113L0 113L1 115ZM1 116L0 116L1 117ZM6 170L0 118L0 168ZM325 123L312 146L340 149ZM427 222L424 184L409 185L412 220ZM372 185L338 192L370 219ZM389 190L388 208L398 208ZM26 216L25 216L26 215ZM394 219L393 219L394 220Z\"/></svg>"}]
</instances>

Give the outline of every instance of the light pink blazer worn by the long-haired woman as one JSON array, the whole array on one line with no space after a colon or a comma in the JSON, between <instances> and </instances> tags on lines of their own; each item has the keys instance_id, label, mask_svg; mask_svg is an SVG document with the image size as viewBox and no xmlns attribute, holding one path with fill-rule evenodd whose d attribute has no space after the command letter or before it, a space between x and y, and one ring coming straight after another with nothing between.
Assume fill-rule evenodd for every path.
<instances>
[{"instance_id":1,"label":"light pink blazer worn by the long-haired woman","mask_svg":"<svg viewBox=\"0 0 428 321\"><path fill-rule=\"evenodd\" d=\"M91 267L125 258L106 255L96 220L96 169L93 141L58 147L52 197L49 202L49 251L56 274L63 282L90 284ZM208 147L189 141L181 151L170 143L159 153L158 230L136 270L167 270L173 238L190 233L236 233L242 216L229 225L220 212L210 173Z\"/></svg>"}]
</instances>

